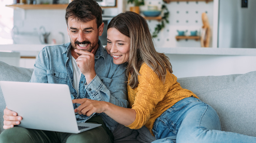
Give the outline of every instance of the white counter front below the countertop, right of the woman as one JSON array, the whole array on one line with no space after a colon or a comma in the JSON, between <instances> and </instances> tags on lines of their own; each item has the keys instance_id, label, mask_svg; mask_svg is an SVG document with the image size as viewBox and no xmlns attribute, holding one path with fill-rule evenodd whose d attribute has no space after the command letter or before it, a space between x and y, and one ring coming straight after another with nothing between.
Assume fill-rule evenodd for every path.
<instances>
[{"instance_id":1,"label":"white counter front below the countertop, right of the woman","mask_svg":"<svg viewBox=\"0 0 256 143\"><path fill-rule=\"evenodd\" d=\"M170 58L173 74L178 78L256 71L256 56L166 55Z\"/></svg>"}]
</instances>

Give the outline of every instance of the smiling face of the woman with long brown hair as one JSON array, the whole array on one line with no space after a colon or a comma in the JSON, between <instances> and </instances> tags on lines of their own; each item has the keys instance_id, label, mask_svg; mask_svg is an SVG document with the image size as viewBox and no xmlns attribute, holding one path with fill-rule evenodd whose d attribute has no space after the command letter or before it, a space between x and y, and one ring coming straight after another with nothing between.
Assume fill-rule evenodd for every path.
<instances>
[{"instance_id":1,"label":"smiling face of the woman with long brown hair","mask_svg":"<svg viewBox=\"0 0 256 143\"><path fill-rule=\"evenodd\" d=\"M110 51L114 64L128 61L130 53L130 38L120 33L116 28L107 31L107 49Z\"/></svg>"}]
</instances>

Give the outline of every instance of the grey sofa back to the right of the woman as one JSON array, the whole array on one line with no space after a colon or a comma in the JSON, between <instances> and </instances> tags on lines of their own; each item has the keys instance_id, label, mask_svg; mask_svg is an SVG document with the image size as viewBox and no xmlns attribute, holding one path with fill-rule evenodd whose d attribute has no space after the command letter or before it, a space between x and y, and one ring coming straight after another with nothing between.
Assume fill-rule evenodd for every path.
<instances>
[{"instance_id":1,"label":"grey sofa back to the right of the woman","mask_svg":"<svg viewBox=\"0 0 256 143\"><path fill-rule=\"evenodd\" d=\"M179 78L218 113L223 131L256 136L256 71L224 76Z\"/></svg>"}]
</instances>

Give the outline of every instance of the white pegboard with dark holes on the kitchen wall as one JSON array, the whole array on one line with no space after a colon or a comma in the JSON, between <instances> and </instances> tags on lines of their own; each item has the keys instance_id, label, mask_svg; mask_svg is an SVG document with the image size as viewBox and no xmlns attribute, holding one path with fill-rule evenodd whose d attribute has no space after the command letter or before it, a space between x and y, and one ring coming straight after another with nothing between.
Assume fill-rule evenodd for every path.
<instances>
[{"instance_id":1,"label":"white pegboard with dark holes on the kitchen wall","mask_svg":"<svg viewBox=\"0 0 256 143\"><path fill-rule=\"evenodd\" d=\"M149 5L158 6L161 8L162 0L144 0L145 5L140 10L146 10ZM204 1L182 1L170 2L166 4L169 10L169 24L161 30L157 38L154 38L156 47L201 47L200 40L179 40L175 39L178 35L177 30L186 31L186 35L190 35L190 31L198 31L201 34L202 13L205 12L208 16L209 24L213 25L213 2ZM159 23L155 20L147 20L151 31L153 32L155 26ZM210 45L211 46L211 45Z\"/></svg>"}]
</instances>

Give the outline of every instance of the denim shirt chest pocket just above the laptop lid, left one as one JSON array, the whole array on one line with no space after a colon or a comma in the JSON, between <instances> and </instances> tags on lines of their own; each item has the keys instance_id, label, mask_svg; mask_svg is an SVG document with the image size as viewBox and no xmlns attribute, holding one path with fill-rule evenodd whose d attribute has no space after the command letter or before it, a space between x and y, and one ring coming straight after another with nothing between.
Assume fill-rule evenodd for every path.
<instances>
[{"instance_id":1,"label":"denim shirt chest pocket just above the laptop lid, left one","mask_svg":"<svg viewBox=\"0 0 256 143\"><path fill-rule=\"evenodd\" d=\"M68 83L68 74L60 73L53 70L46 70L48 83L56 84L67 84Z\"/></svg>"}]
</instances>

